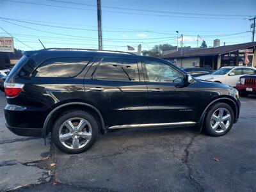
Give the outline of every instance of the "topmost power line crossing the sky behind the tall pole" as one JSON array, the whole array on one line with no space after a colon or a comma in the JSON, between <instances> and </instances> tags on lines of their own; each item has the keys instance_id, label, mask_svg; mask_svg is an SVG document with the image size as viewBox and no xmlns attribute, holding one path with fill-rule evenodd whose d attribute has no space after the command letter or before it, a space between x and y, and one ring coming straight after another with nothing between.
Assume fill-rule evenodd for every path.
<instances>
[{"instance_id":1,"label":"topmost power line crossing the sky behind the tall pole","mask_svg":"<svg viewBox=\"0 0 256 192\"><path fill-rule=\"evenodd\" d=\"M36 5L40 5L40 6L51 6L51 7L67 8L67 9L73 9L73 10L87 10L87 11L93 11L93 12L96 11L96 10L89 10L89 9L84 9L84 8L74 8L74 7L69 7L69 6L57 6L57 5L52 5L52 4L32 3L32 2L15 1L15 0L2 0L2 1L8 1L8 2L13 2L13 3L36 4ZM120 14L126 14L126 15L133 14L133 15L156 16L156 17L187 18L187 19L248 19L248 18L232 18L232 17L228 18L228 17L191 17L191 16L177 16L177 15L157 15L157 14L149 14L149 13L115 12L115 11L108 11L108 10L105 10L104 12L120 13ZM154 10L153 10L153 12L154 12Z\"/></svg>"}]
</instances>

